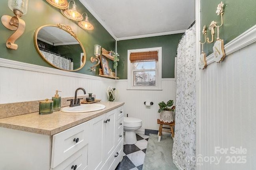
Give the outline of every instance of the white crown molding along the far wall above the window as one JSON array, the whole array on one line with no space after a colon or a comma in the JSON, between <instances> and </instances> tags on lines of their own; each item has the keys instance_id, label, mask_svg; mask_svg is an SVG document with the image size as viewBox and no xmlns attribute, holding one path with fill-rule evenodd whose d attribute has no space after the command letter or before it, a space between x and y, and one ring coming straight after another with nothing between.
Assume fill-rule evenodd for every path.
<instances>
[{"instance_id":1,"label":"white crown molding along the far wall above the window","mask_svg":"<svg viewBox=\"0 0 256 170\"><path fill-rule=\"evenodd\" d=\"M116 41L128 40L128 39L138 39L138 38L147 38L147 37L156 37L156 36L161 36L161 35L178 34L178 33L184 33L185 31L186 31L186 29L180 29L180 30L176 30L176 31L166 31L166 32L161 32L161 33L134 35L134 36L129 36L129 37L118 37L116 39Z\"/></svg>"}]
</instances>

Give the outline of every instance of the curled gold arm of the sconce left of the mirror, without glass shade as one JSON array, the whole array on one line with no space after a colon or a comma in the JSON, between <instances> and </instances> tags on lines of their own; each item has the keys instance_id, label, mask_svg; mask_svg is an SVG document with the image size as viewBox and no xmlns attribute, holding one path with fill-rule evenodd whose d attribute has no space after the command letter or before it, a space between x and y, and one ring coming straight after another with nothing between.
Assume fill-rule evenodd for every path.
<instances>
[{"instance_id":1,"label":"curled gold arm of the sconce left of the mirror, without glass shade","mask_svg":"<svg viewBox=\"0 0 256 170\"><path fill-rule=\"evenodd\" d=\"M18 45L15 44L15 41L24 33L26 24L25 21L20 19L17 16L7 16L4 15L1 17L2 24L12 30L15 31L6 41L6 47L8 49L18 49Z\"/></svg>"}]
</instances>

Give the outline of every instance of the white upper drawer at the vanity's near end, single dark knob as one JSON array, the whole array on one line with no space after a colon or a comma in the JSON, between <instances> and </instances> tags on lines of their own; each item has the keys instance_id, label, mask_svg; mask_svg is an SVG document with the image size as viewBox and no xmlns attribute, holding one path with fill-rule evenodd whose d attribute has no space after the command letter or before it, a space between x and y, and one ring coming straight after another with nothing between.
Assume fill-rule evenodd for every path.
<instances>
[{"instance_id":1,"label":"white upper drawer at the vanity's near end, single dark knob","mask_svg":"<svg viewBox=\"0 0 256 170\"><path fill-rule=\"evenodd\" d=\"M52 137L51 168L66 160L88 144L89 121L57 133Z\"/></svg>"}]
</instances>

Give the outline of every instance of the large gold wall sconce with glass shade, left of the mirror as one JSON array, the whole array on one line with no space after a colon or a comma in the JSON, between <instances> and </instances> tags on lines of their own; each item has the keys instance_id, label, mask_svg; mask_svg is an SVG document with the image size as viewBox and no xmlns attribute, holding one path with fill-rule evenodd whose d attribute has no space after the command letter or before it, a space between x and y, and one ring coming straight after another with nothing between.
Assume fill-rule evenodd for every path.
<instances>
[{"instance_id":1,"label":"large gold wall sconce with glass shade, left of the mirror","mask_svg":"<svg viewBox=\"0 0 256 170\"><path fill-rule=\"evenodd\" d=\"M1 17L1 21L6 28L16 30L6 41L8 49L16 50L18 45L15 44L15 41L24 33L26 27L25 21L20 17L28 12L28 0L8 0L8 7L15 16L4 15Z\"/></svg>"}]
</instances>

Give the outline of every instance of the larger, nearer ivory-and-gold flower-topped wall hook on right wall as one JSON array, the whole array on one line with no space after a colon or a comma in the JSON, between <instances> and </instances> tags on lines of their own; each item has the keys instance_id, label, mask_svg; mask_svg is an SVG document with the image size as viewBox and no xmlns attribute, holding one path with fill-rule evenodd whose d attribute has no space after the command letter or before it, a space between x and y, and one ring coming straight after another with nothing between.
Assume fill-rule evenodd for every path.
<instances>
[{"instance_id":1,"label":"larger, nearer ivory-and-gold flower-topped wall hook on right wall","mask_svg":"<svg viewBox=\"0 0 256 170\"><path fill-rule=\"evenodd\" d=\"M219 37L219 28L223 25L223 6L224 4L222 2L220 2L220 4L218 4L217 6L217 10L216 13L221 16L221 25L217 26L215 24L215 27L217 27L217 39L216 42L214 43L213 46L213 52L214 52L214 57L215 57L215 61L217 63L220 63L223 61L223 59L225 58L225 51L224 51L224 40L220 39Z\"/></svg>"}]
</instances>

